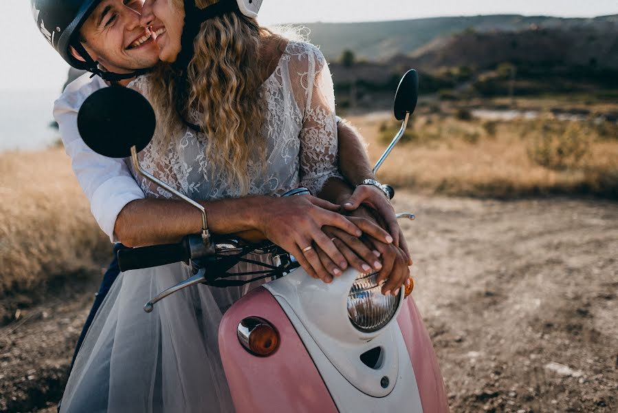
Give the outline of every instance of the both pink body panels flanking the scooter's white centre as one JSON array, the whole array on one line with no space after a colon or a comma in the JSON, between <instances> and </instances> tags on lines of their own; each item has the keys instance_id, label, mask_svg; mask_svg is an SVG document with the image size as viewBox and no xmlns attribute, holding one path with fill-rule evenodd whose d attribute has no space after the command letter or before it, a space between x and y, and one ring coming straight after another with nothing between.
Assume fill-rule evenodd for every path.
<instances>
[{"instance_id":1,"label":"both pink body panels flanking the scooter's white centre","mask_svg":"<svg viewBox=\"0 0 618 413\"><path fill-rule=\"evenodd\" d=\"M250 354L236 336L240 321L252 316L268 320L279 332L279 348L269 357ZM436 354L411 297L404 301L397 323L412 361L423 412L449 412ZM294 326L265 288L256 288L225 313L219 348L236 412L338 412ZM401 407L398 412L408 411L405 406L397 407Z\"/></svg>"}]
</instances>

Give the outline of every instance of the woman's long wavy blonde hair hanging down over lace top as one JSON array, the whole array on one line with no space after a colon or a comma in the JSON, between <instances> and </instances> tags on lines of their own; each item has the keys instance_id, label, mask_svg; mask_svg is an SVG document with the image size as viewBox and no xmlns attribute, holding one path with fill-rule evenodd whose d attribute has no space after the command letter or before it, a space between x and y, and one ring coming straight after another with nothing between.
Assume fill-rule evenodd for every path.
<instances>
[{"instance_id":1,"label":"woman's long wavy blonde hair hanging down over lace top","mask_svg":"<svg viewBox=\"0 0 618 413\"><path fill-rule=\"evenodd\" d=\"M199 8L212 3L217 0L196 0ZM182 10L183 1L170 0L170 7ZM179 75L170 65L160 64L151 75L148 90L162 142L181 133L184 123L180 116L198 125L206 136L205 155L212 174L225 176L239 195L250 189L250 159L265 159L266 144L261 138L266 112L261 84L265 76L264 67L256 64L262 40L270 35L272 32L256 20L239 13L205 21L193 43L195 53L186 73Z\"/></svg>"}]
</instances>

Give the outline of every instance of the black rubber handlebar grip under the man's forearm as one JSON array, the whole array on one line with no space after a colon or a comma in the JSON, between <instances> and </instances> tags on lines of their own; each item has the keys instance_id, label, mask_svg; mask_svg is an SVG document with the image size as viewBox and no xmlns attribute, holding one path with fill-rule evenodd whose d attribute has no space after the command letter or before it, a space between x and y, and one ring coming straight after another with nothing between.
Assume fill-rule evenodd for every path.
<instances>
[{"instance_id":1,"label":"black rubber handlebar grip under the man's forearm","mask_svg":"<svg viewBox=\"0 0 618 413\"><path fill-rule=\"evenodd\" d=\"M118 266L120 266L122 272L175 262L186 262L188 264L189 259L189 248L184 242L144 246L142 248L124 248L118 251Z\"/></svg>"}]
</instances>

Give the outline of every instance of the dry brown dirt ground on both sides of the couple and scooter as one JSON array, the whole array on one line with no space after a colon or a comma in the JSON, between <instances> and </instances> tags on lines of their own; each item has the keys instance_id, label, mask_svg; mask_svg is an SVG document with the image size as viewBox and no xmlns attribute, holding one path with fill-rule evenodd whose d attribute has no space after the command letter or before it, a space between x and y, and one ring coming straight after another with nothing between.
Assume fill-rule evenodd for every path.
<instances>
[{"instance_id":1,"label":"dry brown dirt ground on both sides of the couple and scooter","mask_svg":"<svg viewBox=\"0 0 618 413\"><path fill-rule=\"evenodd\" d=\"M400 191L452 412L618 409L618 204ZM96 282L0 328L0 412L54 411Z\"/></svg>"}]
</instances>

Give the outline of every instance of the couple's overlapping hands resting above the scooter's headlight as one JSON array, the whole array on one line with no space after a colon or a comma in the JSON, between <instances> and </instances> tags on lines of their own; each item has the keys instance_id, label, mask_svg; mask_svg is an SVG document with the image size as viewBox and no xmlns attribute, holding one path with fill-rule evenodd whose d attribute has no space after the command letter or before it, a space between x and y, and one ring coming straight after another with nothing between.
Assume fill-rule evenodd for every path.
<instances>
[{"instance_id":1,"label":"couple's overlapping hands resting above the scooter's headlight","mask_svg":"<svg viewBox=\"0 0 618 413\"><path fill-rule=\"evenodd\" d=\"M409 282L406 240L393 206L375 187L361 185L341 204L311 195L276 198L262 223L261 232L294 255L311 277L329 283L349 266L377 271L384 295Z\"/></svg>"}]
</instances>

